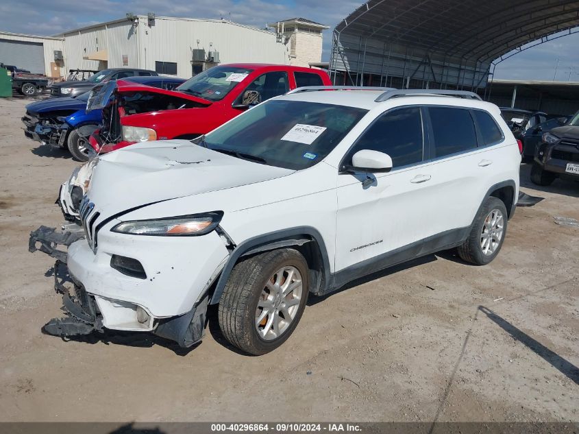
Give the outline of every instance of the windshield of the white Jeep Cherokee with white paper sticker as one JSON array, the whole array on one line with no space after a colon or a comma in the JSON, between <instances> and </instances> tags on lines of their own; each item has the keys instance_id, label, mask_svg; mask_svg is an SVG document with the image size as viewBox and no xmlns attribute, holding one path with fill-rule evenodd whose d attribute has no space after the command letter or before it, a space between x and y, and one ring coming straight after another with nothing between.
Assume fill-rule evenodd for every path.
<instances>
[{"instance_id":1,"label":"windshield of the white Jeep Cherokee with white paper sticker","mask_svg":"<svg viewBox=\"0 0 579 434\"><path fill-rule=\"evenodd\" d=\"M304 101L267 101L207 134L199 145L266 165L306 169L330 154L367 111Z\"/></svg>"}]
</instances>

